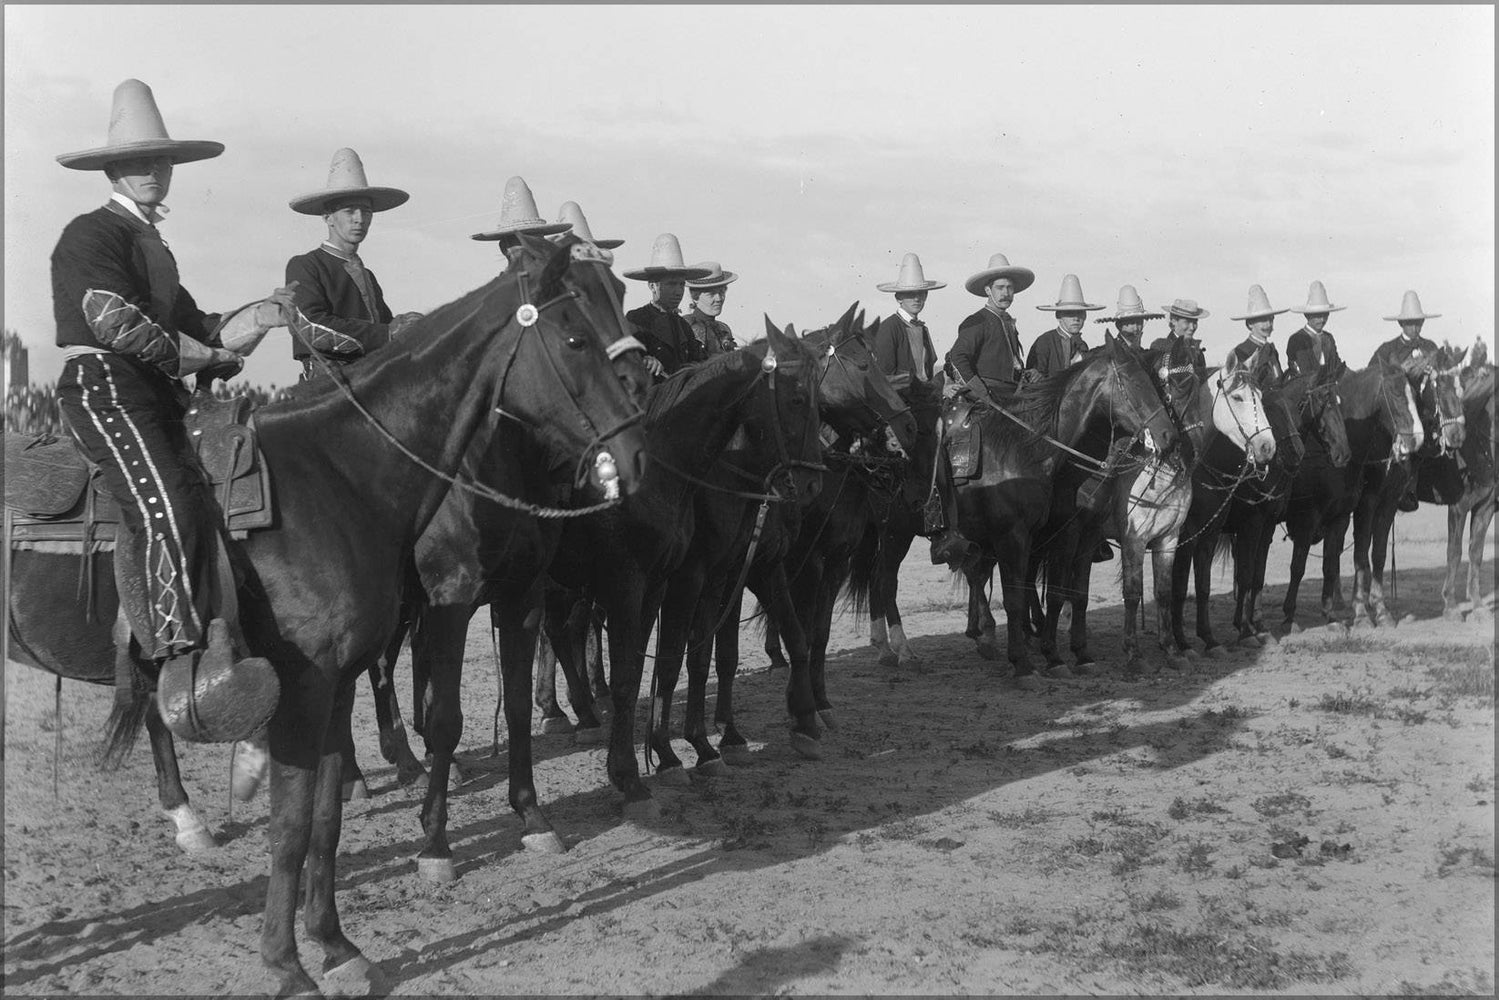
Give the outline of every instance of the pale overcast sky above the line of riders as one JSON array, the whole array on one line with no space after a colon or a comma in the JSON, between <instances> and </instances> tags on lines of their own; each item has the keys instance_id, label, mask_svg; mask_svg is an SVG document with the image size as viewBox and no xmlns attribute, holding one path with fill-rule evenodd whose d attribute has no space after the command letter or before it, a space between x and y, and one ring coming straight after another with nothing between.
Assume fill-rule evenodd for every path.
<instances>
[{"instance_id":1,"label":"pale overcast sky above the line of riders","mask_svg":"<svg viewBox=\"0 0 1499 1000\"><path fill-rule=\"evenodd\" d=\"M925 316L943 352L995 252L1036 271L1012 309L1027 346L1069 271L1100 304L1121 283L1196 298L1213 360L1252 283L1285 307L1312 279L1348 306L1330 330L1355 364L1408 288L1442 313L1432 339L1493 339L1492 6L6 4L4 325L33 381L61 366L51 249L108 196L54 157L103 144L129 76L172 138L226 145L177 169L162 226L210 310L321 241L286 202L349 145L411 192L361 247L396 312L496 273L468 237L519 174L547 219L573 199L625 238L616 271L660 232L738 271L742 340L763 313L889 313L874 286L908 250L947 282ZM646 301L627 285L627 309ZM244 378L295 372L277 331Z\"/></svg>"}]
</instances>

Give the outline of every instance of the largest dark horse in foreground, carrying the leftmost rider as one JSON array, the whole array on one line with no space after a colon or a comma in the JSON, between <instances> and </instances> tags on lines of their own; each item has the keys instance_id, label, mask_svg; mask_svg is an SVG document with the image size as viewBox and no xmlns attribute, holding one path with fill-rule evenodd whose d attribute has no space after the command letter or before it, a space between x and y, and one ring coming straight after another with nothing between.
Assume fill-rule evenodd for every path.
<instances>
[{"instance_id":1,"label":"largest dark horse in foreground, carrying the leftmost rider","mask_svg":"<svg viewBox=\"0 0 1499 1000\"><path fill-rule=\"evenodd\" d=\"M454 483L481 489L454 472L486 414L504 409L552 454L576 459L576 481L589 496L615 478L606 471L625 496L642 481L639 409L592 333L603 327L607 340L621 339L622 316L592 312L592 297L576 295L600 282L603 268L576 265L568 249L541 240L523 237L523 247L525 265L429 313L336 378L258 411L279 519L237 549L246 571L244 636L280 682L268 724L271 867L261 931L261 957L280 994L318 994L294 931L309 855L304 930L324 951L325 985L385 988L337 915L342 735L358 669L393 628L412 546ZM39 556L16 570L12 627L37 636L51 669L60 670L67 661L57 654L69 652L51 636L91 634L94 648L105 648L106 630L67 600L72 559ZM100 574L100 586L109 579Z\"/></svg>"}]
</instances>

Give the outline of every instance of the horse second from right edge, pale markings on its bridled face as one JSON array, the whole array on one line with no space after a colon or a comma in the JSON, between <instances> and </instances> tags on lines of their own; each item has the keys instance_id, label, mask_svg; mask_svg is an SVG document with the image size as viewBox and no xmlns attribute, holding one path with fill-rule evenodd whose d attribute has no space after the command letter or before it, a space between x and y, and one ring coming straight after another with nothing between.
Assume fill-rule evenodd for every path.
<instances>
[{"instance_id":1,"label":"horse second from right edge, pale markings on its bridled face","mask_svg":"<svg viewBox=\"0 0 1499 1000\"><path fill-rule=\"evenodd\" d=\"M1396 523L1396 510L1409 480L1420 466L1463 447L1463 390L1459 384L1463 355L1450 345L1405 372L1415 394L1426 451L1421 445L1402 462L1373 468L1354 507L1354 624L1393 625L1394 616L1384 600L1385 553Z\"/></svg>"}]
</instances>

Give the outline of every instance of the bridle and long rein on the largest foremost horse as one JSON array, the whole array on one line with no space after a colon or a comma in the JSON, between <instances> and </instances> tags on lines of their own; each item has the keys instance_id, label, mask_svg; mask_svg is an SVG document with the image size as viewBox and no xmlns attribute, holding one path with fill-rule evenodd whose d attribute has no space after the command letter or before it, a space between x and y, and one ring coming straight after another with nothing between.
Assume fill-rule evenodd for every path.
<instances>
[{"instance_id":1,"label":"bridle and long rein on the largest foremost horse","mask_svg":"<svg viewBox=\"0 0 1499 1000\"><path fill-rule=\"evenodd\" d=\"M526 301L529 298L526 295L526 273L525 271L519 271L517 277L520 280L520 297L523 300L522 306L519 309L516 309L514 315L510 319L507 319L505 324L501 325L499 330L496 330L495 333L498 334L505 327L508 327L511 322L519 324L522 330L520 330L520 334L516 337L516 343L514 343L514 346L510 351L510 357L505 361L504 370L501 373L499 382L498 382L496 390L495 390L496 397L504 393L505 379L510 376L510 369L516 363L516 355L520 351L520 336L525 336L526 330L538 325L538 322L541 319L541 313L544 310L550 309L552 306L556 306L558 303L561 303L564 300L568 300L568 298L579 300L579 303L582 306L582 297L576 291L571 291L571 289L567 291L567 292L564 292L562 295L558 295L556 298L552 298L552 300L543 303L541 306L534 306L534 304L531 304L531 301ZM582 310L585 312L585 315L588 315L586 306L582 306ZM307 316L300 309L297 309L295 312L297 312L297 318L298 318L300 324L309 324L310 325L312 321L307 319ZM337 366L328 364L327 358L324 358L318 351L312 349L312 345L307 340L306 334L303 334L301 330L300 330L300 324L291 324L289 325L291 333L292 333L294 337L297 337L298 340L303 342L303 346L306 346L309 349L309 352L310 352L312 358L315 360L316 366L322 369L322 373L327 375L330 379L333 379L334 385L339 387L339 391L343 394L343 397L349 400L349 403L354 406L354 409L361 417L364 417L366 423L369 423L370 427L373 427L400 454L403 454L408 460L411 460L415 466L418 466L420 469L426 471L427 474L430 474L430 475L442 480L444 483L453 486L454 489L463 490L465 493L469 493L472 496L478 496L480 499L486 499L486 501L490 501L492 504L498 504L498 505L507 507L510 510L516 510L516 511L522 511L525 514L531 514L532 517L541 517L541 519L549 519L549 520L559 520L559 519L568 519L568 517L585 517L588 514L594 514L594 513L598 513L601 510L609 510L609 508L616 507L619 504L619 483L618 483L618 478L609 478L606 475L607 472L613 471L615 460L613 460L613 456L610 456L609 451L604 451L603 448L600 448L597 457L594 459L594 465L595 465L595 468L600 472L600 481L604 483L606 499L601 504L594 504L591 507L573 507L573 508L544 507L544 505L540 505L540 504L532 504L529 501L517 499L514 496L507 496L505 493L501 493L499 490L495 490L495 489L492 489L492 487L489 487L484 483L480 483L477 480L471 480L471 478L462 477L462 475L450 475L450 474L444 472L442 469L433 466L430 462L427 462L426 459L423 459L420 454L417 454L415 451L412 451L411 448L408 448L399 438L396 438L396 435L393 435L390 430L385 429L384 424L379 423L379 420L375 417L375 414L372 414L364 406L364 403L361 403L360 399L354 394L354 390L352 390L352 387L348 382L348 376L343 375L343 372L340 372L337 369ZM613 360L619 354L622 354L625 351L630 351L630 349L636 349L639 346L640 346L640 343L634 337L624 337L624 339L621 339L621 340L609 345L609 348L606 351L607 351L610 360ZM556 363L552 360L552 355L549 352L546 352L546 351L543 351L543 355L547 358L547 364L552 367L552 373L561 382L561 373L556 370ZM571 396L571 393L570 393L570 396ZM577 403L576 399L573 402L574 402L574 405ZM502 409L499 406L499 403L498 403L498 399L496 399L496 403L495 403L493 409L495 409L495 412L498 412L502 417L508 417L510 420L516 420L517 423L523 423L514 414L510 414L505 409ZM582 408L579 408L579 412L582 415ZM643 418L643 414L642 412L636 412L636 414L627 417L625 420L622 420L619 423L619 426L607 430L606 433L595 433L594 439L589 442L588 448L585 448L583 454L579 457L579 469L582 469L583 462L588 460L588 454L592 453L597 445L603 445L604 441L607 441L609 438L613 438L615 435L627 430L628 427L631 427L636 423L639 423L642 418ZM583 417L583 421L585 421L585 424L589 426L589 429L592 429L592 424L588 421L586 417ZM579 478L582 478L582 477L579 477Z\"/></svg>"}]
</instances>

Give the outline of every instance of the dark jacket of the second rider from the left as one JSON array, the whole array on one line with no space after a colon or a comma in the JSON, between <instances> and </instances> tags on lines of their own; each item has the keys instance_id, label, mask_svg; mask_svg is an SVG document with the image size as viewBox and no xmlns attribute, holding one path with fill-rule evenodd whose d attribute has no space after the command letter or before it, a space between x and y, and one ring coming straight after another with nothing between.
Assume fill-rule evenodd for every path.
<instances>
[{"instance_id":1,"label":"dark jacket of the second rider from the left","mask_svg":"<svg viewBox=\"0 0 1499 1000\"><path fill-rule=\"evenodd\" d=\"M316 351L330 361L352 361L390 343L391 312L375 273L369 279L370 298L360 291L348 262L319 246L286 261L286 283L297 282L297 309L310 319L312 343L292 337L291 354L298 361Z\"/></svg>"}]
</instances>

